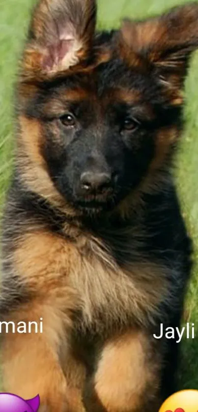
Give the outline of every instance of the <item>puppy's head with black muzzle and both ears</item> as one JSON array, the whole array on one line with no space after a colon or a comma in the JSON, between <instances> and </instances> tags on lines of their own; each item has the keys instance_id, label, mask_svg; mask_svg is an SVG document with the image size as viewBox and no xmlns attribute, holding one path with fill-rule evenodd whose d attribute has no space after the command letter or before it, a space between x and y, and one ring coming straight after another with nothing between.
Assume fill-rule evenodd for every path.
<instances>
[{"instance_id":1,"label":"puppy's head with black muzzle and both ears","mask_svg":"<svg viewBox=\"0 0 198 412\"><path fill-rule=\"evenodd\" d=\"M20 82L18 168L68 213L103 213L167 170L198 4L95 32L94 0L41 0Z\"/></svg>"}]
</instances>

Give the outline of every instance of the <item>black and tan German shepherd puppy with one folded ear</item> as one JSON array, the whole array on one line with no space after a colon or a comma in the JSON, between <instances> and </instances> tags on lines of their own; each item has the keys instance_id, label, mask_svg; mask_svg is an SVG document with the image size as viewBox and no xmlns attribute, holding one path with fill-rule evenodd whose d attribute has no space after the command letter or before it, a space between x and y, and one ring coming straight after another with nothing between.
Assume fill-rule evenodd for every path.
<instances>
[{"instance_id":1,"label":"black and tan German shepherd puppy with one folded ear","mask_svg":"<svg viewBox=\"0 0 198 412\"><path fill-rule=\"evenodd\" d=\"M40 411L157 412L175 389L191 268L172 177L198 3L97 32L94 0L41 0L17 84L3 220L4 390Z\"/></svg>"}]
</instances>

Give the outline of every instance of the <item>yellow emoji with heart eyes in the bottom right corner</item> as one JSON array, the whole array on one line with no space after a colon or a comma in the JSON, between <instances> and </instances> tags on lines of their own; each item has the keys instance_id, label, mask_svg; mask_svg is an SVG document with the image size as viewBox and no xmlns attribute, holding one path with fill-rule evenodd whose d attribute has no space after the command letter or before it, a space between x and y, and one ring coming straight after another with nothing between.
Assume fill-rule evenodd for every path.
<instances>
[{"instance_id":1,"label":"yellow emoji with heart eyes in the bottom right corner","mask_svg":"<svg viewBox=\"0 0 198 412\"><path fill-rule=\"evenodd\" d=\"M176 392L168 398L159 412L198 412L198 390Z\"/></svg>"}]
</instances>

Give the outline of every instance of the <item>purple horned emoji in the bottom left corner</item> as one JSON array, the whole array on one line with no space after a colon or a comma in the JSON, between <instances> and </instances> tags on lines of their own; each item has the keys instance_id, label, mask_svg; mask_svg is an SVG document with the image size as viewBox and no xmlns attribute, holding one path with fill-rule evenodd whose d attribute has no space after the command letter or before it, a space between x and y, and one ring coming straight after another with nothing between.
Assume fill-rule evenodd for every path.
<instances>
[{"instance_id":1,"label":"purple horned emoji in the bottom left corner","mask_svg":"<svg viewBox=\"0 0 198 412\"><path fill-rule=\"evenodd\" d=\"M27 401L12 393L0 393L0 412L37 412L39 395Z\"/></svg>"}]
</instances>

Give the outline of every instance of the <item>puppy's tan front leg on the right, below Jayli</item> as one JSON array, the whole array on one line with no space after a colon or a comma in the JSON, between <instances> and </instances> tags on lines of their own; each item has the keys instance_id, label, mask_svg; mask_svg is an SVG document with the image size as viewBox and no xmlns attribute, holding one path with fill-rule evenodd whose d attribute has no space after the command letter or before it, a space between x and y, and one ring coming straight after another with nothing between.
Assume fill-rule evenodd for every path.
<instances>
[{"instance_id":1,"label":"puppy's tan front leg on the right, below Jayli","mask_svg":"<svg viewBox=\"0 0 198 412\"><path fill-rule=\"evenodd\" d=\"M157 412L159 383L159 359L148 338L126 333L105 345L94 376L93 406L87 410Z\"/></svg>"}]
</instances>

